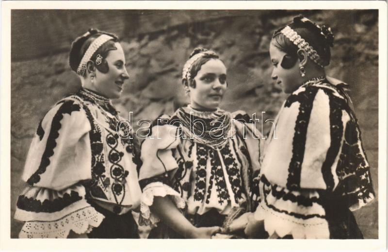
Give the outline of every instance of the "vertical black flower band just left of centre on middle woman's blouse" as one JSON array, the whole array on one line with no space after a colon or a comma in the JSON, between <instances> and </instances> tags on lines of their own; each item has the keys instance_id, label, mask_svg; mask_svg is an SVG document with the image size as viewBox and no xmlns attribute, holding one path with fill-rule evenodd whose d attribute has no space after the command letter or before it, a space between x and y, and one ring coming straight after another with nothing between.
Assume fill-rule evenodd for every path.
<instances>
[{"instance_id":1,"label":"vertical black flower band just left of centre on middle woman's blouse","mask_svg":"<svg viewBox=\"0 0 388 252\"><path fill-rule=\"evenodd\" d=\"M205 145L197 144L197 161L195 177L194 200L203 201L206 190L206 163L209 148ZM210 179L211 181L211 179Z\"/></svg>"}]
</instances>

